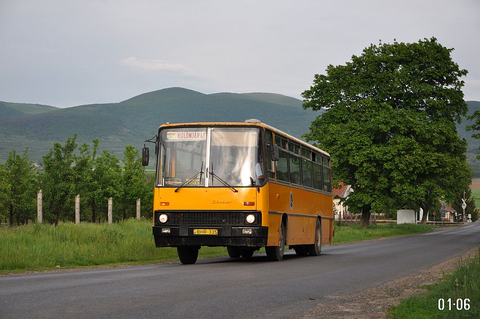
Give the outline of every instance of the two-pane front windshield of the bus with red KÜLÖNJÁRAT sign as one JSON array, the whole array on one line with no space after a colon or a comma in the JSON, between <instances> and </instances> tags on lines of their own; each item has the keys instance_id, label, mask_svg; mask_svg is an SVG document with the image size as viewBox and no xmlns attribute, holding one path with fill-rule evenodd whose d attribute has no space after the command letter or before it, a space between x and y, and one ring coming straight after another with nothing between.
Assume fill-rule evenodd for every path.
<instances>
[{"instance_id":1,"label":"two-pane front windshield of the bus with red K\u00dcL\u00d6NJ\u00c1RAT sign","mask_svg":"<svg viewBox=\"0 0 480 319\"><path fill-rule=\"evenodd\" d=\"M252 187L263 184L260 131L196 127L160 132L160 187ZM207 177L208 174L208 178Z\"/></svg>"}]
</instances>

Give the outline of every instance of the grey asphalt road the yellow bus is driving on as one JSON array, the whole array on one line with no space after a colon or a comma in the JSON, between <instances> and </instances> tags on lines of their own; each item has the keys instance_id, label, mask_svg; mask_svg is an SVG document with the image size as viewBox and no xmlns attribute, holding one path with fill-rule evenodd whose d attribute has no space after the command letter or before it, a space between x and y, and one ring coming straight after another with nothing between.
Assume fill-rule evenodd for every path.
<instances>
[{"instance_id":1,"label":"grey asphalt road the yellow bus is driving on","mask_svg":"<svg viewBox=\"0 0 480 319\"><path fill-rule=\"evenodd\" d=\"M152 239L153 240L153 239ZM212 258L0 277L0 318L291 318L480 245L480 224L287 251L281 262Z\"/></svg>"}]
</instances>

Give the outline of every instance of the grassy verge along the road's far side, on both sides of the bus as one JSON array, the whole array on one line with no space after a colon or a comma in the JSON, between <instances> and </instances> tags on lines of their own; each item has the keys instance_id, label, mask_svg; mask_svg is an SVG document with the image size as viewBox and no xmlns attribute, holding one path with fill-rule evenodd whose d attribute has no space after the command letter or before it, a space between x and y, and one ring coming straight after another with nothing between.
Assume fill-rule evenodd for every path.
<instances>
[{"instance_id":1,"label":"grassy verge along the road's far side, on both sides of the bus","mask_svg":"<svg viewBox=\"0 0 480 319\"><path fill-rule=\"evenodd\" d=\"M357 225L335 228L333 243L428 231L430 225ZM178 260L176 249L155 248L150 221L129 219L118 224L60 223L0 227L0 273L158 263ZM264 251L263 249L261 251ZM199 257L226 255L224 247L202 247Z\"/></svg>"}]
</instances>

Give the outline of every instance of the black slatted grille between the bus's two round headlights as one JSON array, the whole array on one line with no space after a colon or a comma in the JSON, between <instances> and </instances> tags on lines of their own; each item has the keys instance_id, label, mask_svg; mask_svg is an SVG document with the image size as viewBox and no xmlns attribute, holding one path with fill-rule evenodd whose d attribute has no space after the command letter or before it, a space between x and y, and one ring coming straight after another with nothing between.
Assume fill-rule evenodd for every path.
<instances>
[{"instance_id":1,"label":"black slatted grille between the bus's two round headlights","mask_svg":"<svg viewBox=\"0 0 480 319\"><path fill-rule=\"evenodd\" d=\"M244 225L244 211L168 211L170 225Z\"/></svg>"}]
</instances>

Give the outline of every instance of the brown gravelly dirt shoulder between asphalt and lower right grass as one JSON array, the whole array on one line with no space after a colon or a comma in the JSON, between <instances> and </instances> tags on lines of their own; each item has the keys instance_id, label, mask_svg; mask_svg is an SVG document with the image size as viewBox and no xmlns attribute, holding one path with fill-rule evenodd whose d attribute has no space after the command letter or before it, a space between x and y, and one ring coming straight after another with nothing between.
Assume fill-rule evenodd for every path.
<instances>
[{"instance_id":1,"label":"brown gravelly dirt shoulder between asphalt and lower right grass","mask_svg":"<svg viewBox=\"0 0 480 319\"><path fill-rule=\"evenodd\" d=\"M459 257L452 258L416 274L389 281L381 286L350 296L330 296L329 301L318 304L303 319L387 319L387 311L400 303L402 299L426 292L418 288L431 284L442 277L443 273L452 272L458 266L460 258L468 259L476 255L477 249L470 250Z\"/></svg>"}]
</instances>

